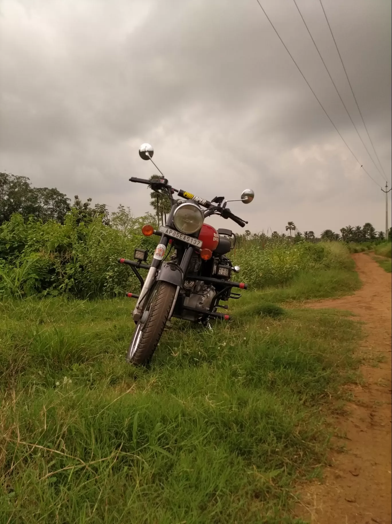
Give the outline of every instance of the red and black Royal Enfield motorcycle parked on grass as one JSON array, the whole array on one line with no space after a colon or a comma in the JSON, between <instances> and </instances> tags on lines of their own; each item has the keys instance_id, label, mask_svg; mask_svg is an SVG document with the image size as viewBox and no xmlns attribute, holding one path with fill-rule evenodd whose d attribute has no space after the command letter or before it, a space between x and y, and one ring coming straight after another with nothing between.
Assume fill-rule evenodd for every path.
<instances>
[{"instance_id":1,"label":"red and black Royal Enfield motorcycle parked on grass","mask_svg":"<svg viewBox=\"0 0 392 524\"><path fill-rule=\"evenodd\" d=\"M165 225L161 225L158 231L151 225L144 225L141 230L145 236L160 237L151 264L146 264L148 251L139 248L134 253L136 261L118 259L120 264L132 268L141 288L140 294L126 293L136 299L133 311L136 328L126 360L145 365L153 356L165 325L172 317L209 327L210 320L230 320L230 315L217 311L219 308L228 309L220 302L241 297L240 293L232 291L233 288L247 289L245 283L230 280L240 269L227 257L235 246L236 237L231 230L215 230L204 223L204 219L220 215L244 227L247 221L235 216L226 205L239 201L248 204L254 199L254 191L246 189L240 200L215 196L209 202L188 191L172 188L152 159L154 149L151 145L141 145L139 155L143 160L150 160L162 178L145 180L132 177L129 180L148 185L158 194L166 195L171 203ZM179 199L174 198L175 193ZM148 269L145 280L139 269Z\"/></svg>"}]
</instances>

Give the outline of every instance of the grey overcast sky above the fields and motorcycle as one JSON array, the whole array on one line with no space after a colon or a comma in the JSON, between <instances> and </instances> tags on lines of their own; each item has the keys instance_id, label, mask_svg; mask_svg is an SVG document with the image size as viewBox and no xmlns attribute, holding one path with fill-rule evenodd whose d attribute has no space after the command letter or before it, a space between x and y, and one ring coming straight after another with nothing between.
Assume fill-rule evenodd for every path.
<instances>
[{"instance_id":1,"label":"grey overcast sky above the fields and motorcycle","mask_svg":"<svg viewBox=\"0 0 392 524\"><path fill-rule=\"evenodd\" d=\"M260 3L384 185L293 1ZM372 152L319 0L297 3ZM390 183L391 2L323 5ZM253 232L288 221L317 234L367 221L384 229L384 193L256 0L0 0L0 82L0 170L33 185L142 214L148 190L128 178L156 173L138 155L149 142L177 189L211 199L253 188L252 204L231 205Z\"/></svg>"}]
</instances>

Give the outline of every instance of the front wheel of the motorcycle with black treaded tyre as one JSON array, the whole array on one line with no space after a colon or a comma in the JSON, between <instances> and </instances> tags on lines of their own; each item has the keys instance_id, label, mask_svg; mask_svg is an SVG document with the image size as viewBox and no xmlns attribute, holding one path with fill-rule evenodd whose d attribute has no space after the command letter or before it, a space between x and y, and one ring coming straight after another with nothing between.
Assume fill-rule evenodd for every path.
<instances>
[{"instance_id":1,"label":"front wheel of the motorcycle with black treaded tyre","mask_svg":"<svg viewBox=\"0 0 392 524\"><path fill-rule=\"evenodd\" d=\"M135 365L149 362L164 331L176 290L176 286L168 282L156 284L136 325L127 362Z\"/></svg>"}]
</instances>

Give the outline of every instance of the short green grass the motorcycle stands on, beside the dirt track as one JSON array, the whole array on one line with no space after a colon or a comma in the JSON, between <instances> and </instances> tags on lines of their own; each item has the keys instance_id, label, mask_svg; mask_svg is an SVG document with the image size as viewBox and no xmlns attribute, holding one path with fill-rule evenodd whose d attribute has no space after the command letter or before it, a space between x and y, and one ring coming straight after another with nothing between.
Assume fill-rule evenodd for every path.
<instances>
[{"instance_id":1,"label":"short green grass the motorcycle stands on, beside the dirt track","mask_svg":"<svg viewBox=\"0 0 392 524\"><path fill-rule=\"evenodd\" d=\"M213 331L173 322L149 369L125 364L132 301L0 303L0 522L295 522L360 328L285 302L357 287L330 269L244 293Z\"/></svg>"}]
</instances>

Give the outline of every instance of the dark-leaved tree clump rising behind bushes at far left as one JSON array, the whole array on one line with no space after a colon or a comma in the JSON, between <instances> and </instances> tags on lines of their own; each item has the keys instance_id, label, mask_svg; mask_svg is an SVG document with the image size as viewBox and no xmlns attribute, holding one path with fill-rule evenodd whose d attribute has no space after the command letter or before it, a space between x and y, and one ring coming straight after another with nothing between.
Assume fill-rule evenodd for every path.
<instances>
[{"instance_id":1,"label":"dark-leaved tree clump rising behind bushes at far left","mask_svg":"<svg viewBox=\"0 0 392 524\"><path fill-rule=\"evenodd\" d=\"M8 222L13 213L27 220L64 222L70 210L69 199L56 188L32 188L27 177L0 173L0 224Z\"/></svg>"}]
</instances>

